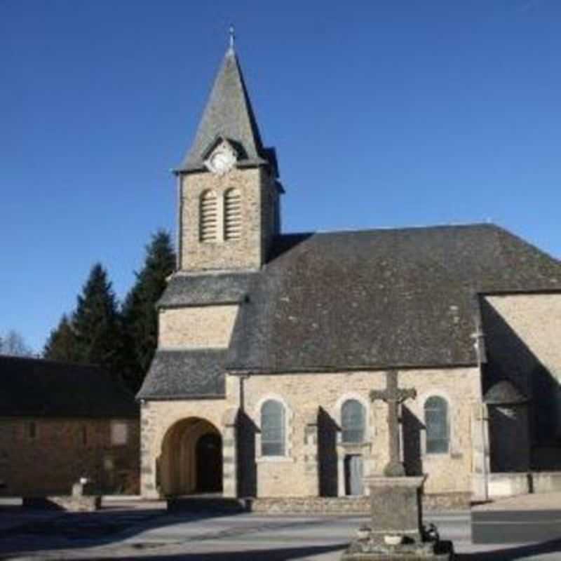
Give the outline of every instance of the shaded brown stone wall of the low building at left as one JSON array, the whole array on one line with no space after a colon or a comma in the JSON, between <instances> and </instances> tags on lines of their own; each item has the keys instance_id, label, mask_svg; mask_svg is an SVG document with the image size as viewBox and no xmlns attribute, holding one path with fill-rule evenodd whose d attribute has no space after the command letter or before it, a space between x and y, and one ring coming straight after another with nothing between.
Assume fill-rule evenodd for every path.
<instances>
[{"instance_id":1,"label":"shaded brown stone wall of the low building at left","mask_svg":"<svg viewBox=\"0 0 561 561\"><path fill-rule=\"evenodd\" d=\"M111 420L0 419L1 493L8 496L69 494L81 477L104 493L137 493L140 467L138 419L126 424L127 441L111 441Z\"/></svg>"}]
</instances>

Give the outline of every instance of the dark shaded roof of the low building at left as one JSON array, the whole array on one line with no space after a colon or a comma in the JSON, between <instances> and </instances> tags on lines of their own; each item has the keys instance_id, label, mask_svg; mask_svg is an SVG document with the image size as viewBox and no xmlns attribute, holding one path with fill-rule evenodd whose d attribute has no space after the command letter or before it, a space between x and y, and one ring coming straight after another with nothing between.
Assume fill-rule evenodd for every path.
<instances>
[{"instance_id":1,"label":"dark shaded roof of the low building at left","mask_svg":"<svg viewBox=\"0 0 561 561\"><path fill-rule=\"evenodd\" d=\"M100 367L0 356L0 417L138 417L132 393Z\"/></svg>"}]
</instances>

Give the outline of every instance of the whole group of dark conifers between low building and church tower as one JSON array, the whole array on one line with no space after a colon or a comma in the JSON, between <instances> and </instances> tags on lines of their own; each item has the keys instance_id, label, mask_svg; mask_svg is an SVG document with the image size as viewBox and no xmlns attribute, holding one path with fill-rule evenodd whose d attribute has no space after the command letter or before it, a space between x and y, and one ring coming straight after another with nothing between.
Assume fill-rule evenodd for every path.
<instances>
[{"instance_id":1,"label":"whole group of dark conifers between low building and church tower","mask_svg":"<svg viewBox=\"0 0 561 561\"><path fill-rule=\"evenodd\" d=\"M75 309L50 332L44 358L97 364L122 377L131 391L140 389L158 342L156 302L175 270L167 232L156 232L145 251L142 269L122 303L104 266L93 265Z\"/></svg>"}]
</instances>

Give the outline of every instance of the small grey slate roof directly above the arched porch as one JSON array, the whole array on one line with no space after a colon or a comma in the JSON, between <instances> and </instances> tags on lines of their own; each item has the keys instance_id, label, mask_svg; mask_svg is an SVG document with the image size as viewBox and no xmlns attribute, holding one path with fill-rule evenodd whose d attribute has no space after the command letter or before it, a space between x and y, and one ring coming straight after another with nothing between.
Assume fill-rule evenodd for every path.
<instances>
[{"instance_id":1,"label":"small grey slate roof directly above the arched porch","mask_svg":"<svg viewBox=\"0 0 561 561\"><path fill-rule=\"evenodd\" d=\"M224 398L226 349L157 351L137 399Z\"/></svg>"}]
</instances>

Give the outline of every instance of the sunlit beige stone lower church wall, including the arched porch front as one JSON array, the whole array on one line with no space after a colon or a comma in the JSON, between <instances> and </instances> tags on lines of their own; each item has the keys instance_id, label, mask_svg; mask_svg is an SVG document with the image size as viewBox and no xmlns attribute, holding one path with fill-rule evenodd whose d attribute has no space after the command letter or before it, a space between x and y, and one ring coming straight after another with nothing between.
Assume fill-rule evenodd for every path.
<instances>
[{"instance_id":1,"label":"sunlit beige stone lower church wall, including the arched porch front","mask_svg":"<svg viewBox=\"0 0 561 561\"><path fill-rule=\"evenodd\" d=\"M417 388L418 393L417 400L408 402L401 414L407 471L428 473L425 487L428 494L471 493L473 468L477 463L472 447L473 433L481 431L477 417L481 399L478 370L402 370L398 380L400 386ZM372 389L383 389L384 384L383 371L228 376L225 400L145 403L142 407L142 492L145 496L160 494L156 466L165 435L182 419L194 417L209 421L222 434L224 494L342 496L345 450L337 430L340 405L347 398L367 404L366 428L372 445L366 443L363 448L365 473L380 473L388 460L386 407L383 403L368 405L368 394ZM244 407L240 410L242 394ZM447 454L426 454L424 448L423 406L426 399L434 395L444 397L449 405L450 450ZM268 398L280 400L287 410L284 457L261 457L259 454L259 407ZM228 470L229 465L236 466L235 471Z\"/></svg>"}]
</instances>

